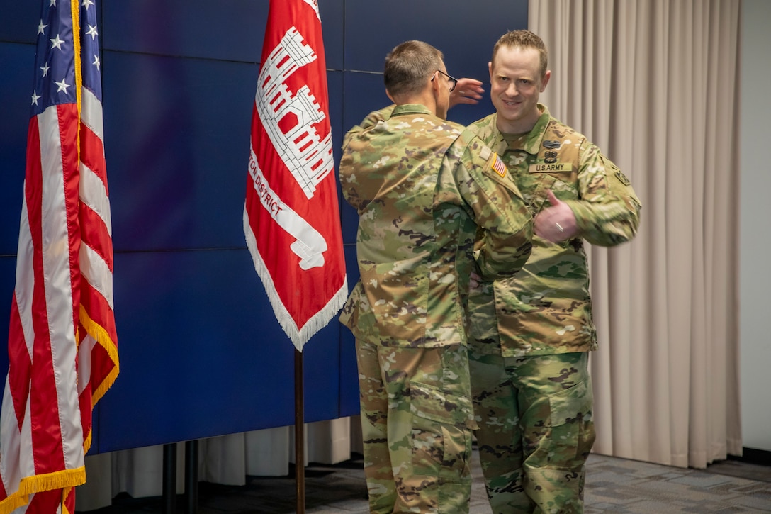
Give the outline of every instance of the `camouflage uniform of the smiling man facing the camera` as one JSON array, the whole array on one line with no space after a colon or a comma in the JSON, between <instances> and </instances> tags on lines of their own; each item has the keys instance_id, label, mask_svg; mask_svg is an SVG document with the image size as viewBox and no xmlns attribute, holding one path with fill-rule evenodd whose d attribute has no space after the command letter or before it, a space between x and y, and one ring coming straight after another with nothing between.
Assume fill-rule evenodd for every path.
<instances>
[{"instance_id":1,"label":"camouflage uniform of the smiling man facing the camera","mask_svg":"<svg viewBox=\"0 0 771 514\"><path fill-rule=\"evenodd\" d=\"M470 293L470 372L476 438L493 512L582 512L594 443L588 351L597 349L583 240L634 237L640 204L598 147L550 116L527 134L501 134L497 114L469 128L507 164L535 216L547 191L573 211L565 242L533 238L517 276Z\"/></svg>"}]
</instances>

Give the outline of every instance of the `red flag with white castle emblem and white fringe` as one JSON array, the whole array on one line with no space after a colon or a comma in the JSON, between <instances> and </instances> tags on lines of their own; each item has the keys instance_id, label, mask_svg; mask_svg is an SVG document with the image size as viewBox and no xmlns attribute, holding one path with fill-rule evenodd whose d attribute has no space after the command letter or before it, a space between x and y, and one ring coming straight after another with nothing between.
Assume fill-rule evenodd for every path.
<instances>
[{"instance_id":1,"label":"red flag with white castle emblem and white fringe","mask_svg":"<svg viewBox=\"0 0 771 514\"><path fill-rule=\"evenodd\" d=\"M244 234L278 323L298 350L348 293L314 0L271 0L251 122Z\"/></svg>"}]
</instances>

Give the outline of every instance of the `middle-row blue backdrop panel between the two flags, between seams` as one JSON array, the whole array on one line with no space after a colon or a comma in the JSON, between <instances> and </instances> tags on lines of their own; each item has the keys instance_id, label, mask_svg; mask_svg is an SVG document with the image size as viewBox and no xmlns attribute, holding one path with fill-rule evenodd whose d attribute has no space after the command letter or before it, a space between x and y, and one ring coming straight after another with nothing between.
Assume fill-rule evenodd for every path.
<instances>
[{"instance_id":1,"label":"middle-row blue backdrop panel between the two flags, between seams","mask_svg":"<svg viewBox=\"0 0 771 514\"><path fill-rule=\"evenodd\" d=\"M104 52L116 251L244 246L258 66Z\"/></svg>"}]
</instances>

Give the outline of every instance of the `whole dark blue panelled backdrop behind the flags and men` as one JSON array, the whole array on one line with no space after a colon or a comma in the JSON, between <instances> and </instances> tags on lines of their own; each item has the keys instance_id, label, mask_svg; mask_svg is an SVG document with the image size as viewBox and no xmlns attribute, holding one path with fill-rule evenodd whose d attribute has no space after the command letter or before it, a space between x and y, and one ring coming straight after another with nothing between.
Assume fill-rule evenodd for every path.
<instances>
[{"instance_id":1,"label":"whole dark blue panelled backdrop behind the flags and men","mask_svg":"<svg viewBox=\"0 0 771 514\"><path fill-rule=\"evenodd\" d=\"M6 2L8 3L8 2ZM527 0L319 2L335 161L345 131L389 103L386 52L423 39L487 84ZM0 333L8 333L39 2L0 17ZM113 451L293 424L294 347L244 243L251 108L268 1L99 2L120 376L94 413ZM449 117L469 123L489 100ZM358 217L342 202L348 283ZM305 420L358 414L354 341L332 320L305 346ZM0 369L7 369L0 353Z\"/></svg>"}]
</instances>

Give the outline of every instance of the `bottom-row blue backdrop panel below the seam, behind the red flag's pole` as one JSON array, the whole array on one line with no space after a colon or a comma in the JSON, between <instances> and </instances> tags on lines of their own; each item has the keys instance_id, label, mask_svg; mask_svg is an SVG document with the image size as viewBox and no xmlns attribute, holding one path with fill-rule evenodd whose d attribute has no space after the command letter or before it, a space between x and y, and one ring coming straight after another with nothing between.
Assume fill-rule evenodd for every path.
<instances>
[{"instance_id":1,"label":"bottom-row blue backdrop panel below the seam, behind the red flag's pole","mask_svg":"<svg viewBox=\"0 0 771 514\"><path fill-rule=\"evenodd\" d=\"M294 423L294 347L246 249L121 253L115 268L121 368L97 451ZM339 331L304 354L307 421L338 417Z\"/></svg>"}]
</instances>

